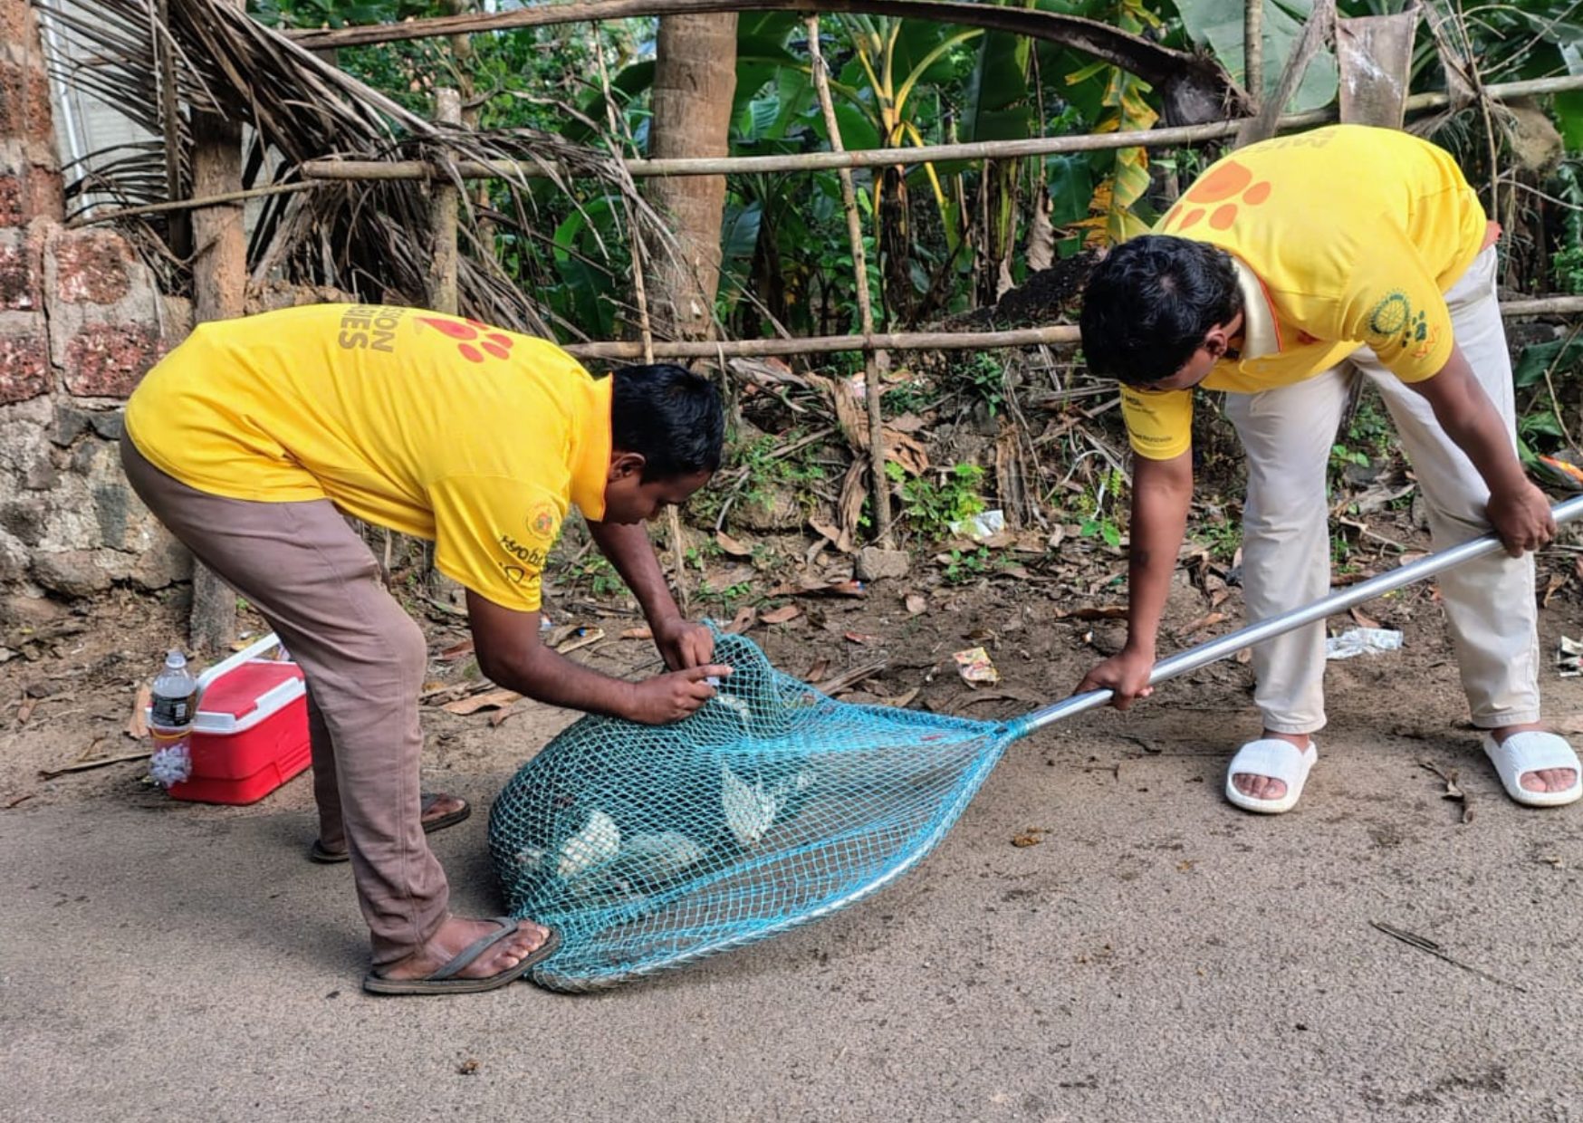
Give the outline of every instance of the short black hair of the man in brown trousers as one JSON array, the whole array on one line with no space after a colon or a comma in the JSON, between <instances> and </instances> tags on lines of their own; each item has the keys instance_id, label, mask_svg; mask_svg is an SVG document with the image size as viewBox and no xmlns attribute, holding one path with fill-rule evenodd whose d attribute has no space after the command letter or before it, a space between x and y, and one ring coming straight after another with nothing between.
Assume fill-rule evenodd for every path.
<instances>
[{"instance_id":1,"label":"short black hair of the man in brown trousers","mask_svg":"<svg viewBox=\"0 0 1583 1123\"><path fill-rule=\"evenodd\" d=\"M725 443L720 393L674 363L624 366L611 379L611 443L643 456L643 482L716 472Z\"/></svg>"}]
</instances>

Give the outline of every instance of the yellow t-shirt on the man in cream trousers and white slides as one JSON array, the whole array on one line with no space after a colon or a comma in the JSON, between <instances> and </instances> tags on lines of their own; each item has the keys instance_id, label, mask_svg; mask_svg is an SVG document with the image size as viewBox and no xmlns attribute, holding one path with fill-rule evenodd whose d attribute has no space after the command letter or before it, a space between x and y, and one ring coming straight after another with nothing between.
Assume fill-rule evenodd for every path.
<instances>
[{"instance_id":1,"label":"yellow t-shirt on the man in cream trousers and white slides","mask_svg":"<svg viewBox=\"0 0 1583 1123\"><path fill-rule=\"evenodd\" d=\"M1200 385L1254 393L1311 379L1365 344L1404 382L1437 374L1453 342L1444 293L1485 227L1444 149L1393 128L1331 125L1216 162L1156 231L1235 258L1244 347ZM1190 390L1124 386L1121 402L1140 456L1187 450Z\"/></svg>"}]
</instances>

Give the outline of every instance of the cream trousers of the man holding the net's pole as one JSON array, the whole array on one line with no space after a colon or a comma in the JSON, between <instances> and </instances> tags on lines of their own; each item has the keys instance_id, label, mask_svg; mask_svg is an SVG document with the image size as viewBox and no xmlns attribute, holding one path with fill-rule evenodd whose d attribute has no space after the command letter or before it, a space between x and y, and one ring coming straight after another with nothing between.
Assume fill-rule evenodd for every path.
<instances>
[{"instance_id":1,"label":"cream trousers of the man holding the net's pole","mask_svg":"<svg viewBox=\"0 0 1583 1123\"><path fill-rule=\"evenodd\" d=\"M1512 361L1496 303L1496 250L1483 250L1447 293L1452 331L1515 437ZM1445 436L1429 405L1368 347L1292 386L1227 394L1225 412L1247 451L1243 512L1243 591L1252 621L1319 600L1330 591L1325 469L1355 379L1385 399L1428 508L1436 550L1490 531L1490 491ZM1437 575L1463 691L1474 725L1539 721L1539 635L1534 558L1488 554ZM1265 729L1312 733L1325 725L1325 624L1254 648L1254 700ZM1410 699L1414 684L1396 686Z\"/></svg>"}]
</instances>

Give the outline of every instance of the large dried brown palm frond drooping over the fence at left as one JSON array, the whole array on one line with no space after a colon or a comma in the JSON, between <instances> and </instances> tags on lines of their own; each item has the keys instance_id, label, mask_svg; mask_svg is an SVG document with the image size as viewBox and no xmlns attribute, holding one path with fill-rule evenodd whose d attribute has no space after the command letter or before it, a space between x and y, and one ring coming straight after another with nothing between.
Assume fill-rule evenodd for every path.
<instances>
[{"instance_id":1,"label":"large dried brown palm frond drooping over the fence at left","mask_svg":"<svg viewBox=\"0 0 1583 1123\"><path fill-rule=\"evenodd\" d=\"M571 179L597 179L624 198L632 222L666 242L671 234L644 203L621 160L537 130L467 131L413 114L291 40L256 24L239 8L215 0L165 0L158 27L149 0L98 0L92 16L73 0L36 0L62 30L70 51L52 52L52 71L117 108L144 133L174 136L190 150L190 114L214 112L252 128L244 187L296 184L310 160L421 160L429 181L323 181L315 190L266 198L253 222L249 272L256 291L271 282L331 287L358 299L423 304L431 246L431 193L435 185L464 187L457 165L524 160L538 166L540 185L502 169L511 206L475 209L461 192L457 276L459 310L508 328L552 336L583 336L549 317L499 265L492 234L537 238L533 196L545 182L570 195ZM161 74L179 112L161 111ZM136 158L93 160L76 168L74 196L109 195L123 204L166 201L168 160L150 163L144 143ZM179 192L188 192L180 160ZM68 169L68 176L71 171ZM142 231L158 230L147 223ZM481 231L491 233L481 233ZM636 241L635 231L628 238ZM141 241L141 239L139 239ZM176 285L190 285L177 276Z\"/></svg>"}]
</instances>

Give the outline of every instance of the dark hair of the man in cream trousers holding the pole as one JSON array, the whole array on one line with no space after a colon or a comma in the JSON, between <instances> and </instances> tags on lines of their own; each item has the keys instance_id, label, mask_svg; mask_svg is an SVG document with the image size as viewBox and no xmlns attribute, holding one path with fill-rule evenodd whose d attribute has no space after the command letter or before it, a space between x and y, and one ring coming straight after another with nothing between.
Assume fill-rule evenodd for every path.
<instances>
[{"instance_id":1,"label":"dark hair of the man in cream trousers holding the pole","mask_svg":"<svg viewBox=\"0 0 1583 1123\"><path fill-rule=\"evenodd\" d=\"M1189 238L1133 238L1107 253L1083 288L1083 356L1094 374L1130 386L1159 382L1241 310L1230 253Z\"/></svg>"}]
</instances>

